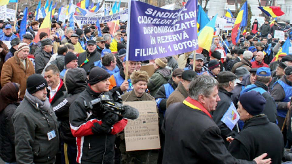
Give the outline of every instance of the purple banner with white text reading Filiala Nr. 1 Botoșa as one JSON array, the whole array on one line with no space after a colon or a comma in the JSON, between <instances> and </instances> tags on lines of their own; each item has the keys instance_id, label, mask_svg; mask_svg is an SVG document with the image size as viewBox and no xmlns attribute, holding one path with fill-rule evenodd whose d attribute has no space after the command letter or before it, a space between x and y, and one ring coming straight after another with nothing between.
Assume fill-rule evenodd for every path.
<instances>
[{"instance_id":1,"label":"purple banner with white text reading Filiala Nr. 1 Boto\u0219a","mask_svg":"<svg viewBox=\"0 0 292 164\"><path fill-rule=\"evenodd\" d=\"M189 0L178 10L132 0L127 28L127 60L151 60L198 49L196 8L196 0Z\"/></svg>"}]
</instances>

